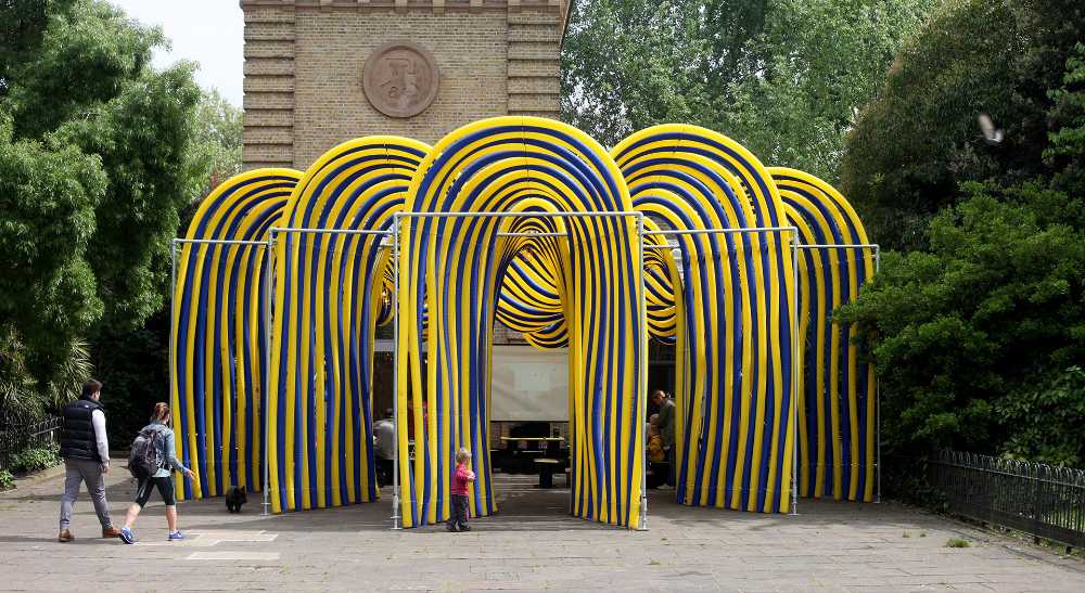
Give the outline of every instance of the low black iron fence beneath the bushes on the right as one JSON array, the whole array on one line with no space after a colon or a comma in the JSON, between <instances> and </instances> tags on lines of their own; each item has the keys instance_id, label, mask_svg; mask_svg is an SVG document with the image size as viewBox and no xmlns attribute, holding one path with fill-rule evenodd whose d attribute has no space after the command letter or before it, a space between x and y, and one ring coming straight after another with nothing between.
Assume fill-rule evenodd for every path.
<instances>
[{"instance_id":1,"label":"low black iron fence beneath the bushes on the right","mask_svg":"<svg viewBox=\"0 0 1085 593\"><path fill-rule=\"evenodd\" d=\"M1085 470L956 451L926 465L950 513L1085 546Z\"/></svg>"}]
</instances>

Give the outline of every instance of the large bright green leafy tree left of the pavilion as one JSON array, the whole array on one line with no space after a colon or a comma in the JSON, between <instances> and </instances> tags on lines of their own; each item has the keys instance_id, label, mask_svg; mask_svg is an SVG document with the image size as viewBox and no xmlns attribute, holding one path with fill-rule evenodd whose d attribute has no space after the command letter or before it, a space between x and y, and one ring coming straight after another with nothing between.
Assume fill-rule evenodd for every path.
<instances>
[{"instance_id":1,"label":"large bright green leafy tree left of the pavilion","mask_svg":"<svg viewBox=\"0 0 1085 593\"><path fill-rule=\"evenodd\" d=\"M206 179L192 65L100 0L0 3L0 371L48 389L80 338L163 308L169 239ZM25 375L20 375L24 373Z\"/></svg>"}]
</instances>

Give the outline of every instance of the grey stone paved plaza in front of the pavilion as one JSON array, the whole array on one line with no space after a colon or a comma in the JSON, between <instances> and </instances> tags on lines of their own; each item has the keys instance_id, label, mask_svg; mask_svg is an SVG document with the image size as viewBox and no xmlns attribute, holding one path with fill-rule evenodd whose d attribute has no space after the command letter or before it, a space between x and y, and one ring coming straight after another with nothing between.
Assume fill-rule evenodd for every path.
<instances>
[{"instance_id":1,"label":"grey stone paved plaza in front of the pavilion","mask_svg":"<svg viewBox=\"0 0 1085 593\"><path fill-rule=\"evenodd\" d=\"M84 492L76 541L56 543L59 475L0 494L2 590L659 590L1085 591L1085 563L894 503L800 501L800 515L689 508L653 492L649 531L567 516L567 490L501 476L501 514L470 533L392 531L376 504L260 516L221 500L179 505L169 543L157 494L140 543L97 539ZM559 486L560 486L559 480ZM108 476L114 520L131 495ZM905 536L907 534L907 537ZM962 538L970 547L946 547Z\"/></svg>"}]
</instances>

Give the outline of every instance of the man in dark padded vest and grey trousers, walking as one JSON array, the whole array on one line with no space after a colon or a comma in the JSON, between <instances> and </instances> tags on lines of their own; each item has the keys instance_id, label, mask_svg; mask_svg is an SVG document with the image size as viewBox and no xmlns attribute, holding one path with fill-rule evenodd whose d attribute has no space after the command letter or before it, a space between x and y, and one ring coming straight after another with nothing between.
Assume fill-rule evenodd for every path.
<instances>
[{"instance_id":1,"label":"man in dark padded vest and grey trousers, walking","mask_svg":"<svg viewBox=\"0 0 1085 593\"><path fill-rule=\"evenodd\" d=\"M110 472L110 441L105 435L105 409L99 403L102 384L90 379L82 386L82 397L64 407L64 429L61 431L61 456L64 457L64 497L61 498L61 542L75 538L68 531L72 506L79 497L79 485L94 503L102 524L102 537L115 538L120 530L110 520L105 502L105 477Z\"/></svg>"}]
</instances>

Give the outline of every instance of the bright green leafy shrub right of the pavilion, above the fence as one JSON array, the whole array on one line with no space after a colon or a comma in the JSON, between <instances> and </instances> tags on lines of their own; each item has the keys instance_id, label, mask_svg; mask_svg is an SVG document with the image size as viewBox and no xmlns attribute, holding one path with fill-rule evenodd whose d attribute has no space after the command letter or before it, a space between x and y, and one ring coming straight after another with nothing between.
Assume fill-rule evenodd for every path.
<instances>
[{"instance_id":1,"label":"bright green leafy shrub right of the pavilion, above the fence","mask_svg":"<svg viewBox=\"0 0 1085 593\"><path fill-rule=\"evenodd\" d=\"M1016 430L998 412L1007 398L1085 360L1085 234L1044 214L1069 197L1034 183L966 191L931 220L929 250L888 253L837 313L875 334L892 452L1000 453Z\"/></svg>"}]
</instances>

